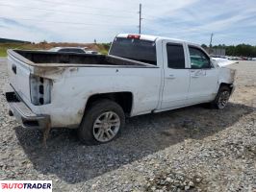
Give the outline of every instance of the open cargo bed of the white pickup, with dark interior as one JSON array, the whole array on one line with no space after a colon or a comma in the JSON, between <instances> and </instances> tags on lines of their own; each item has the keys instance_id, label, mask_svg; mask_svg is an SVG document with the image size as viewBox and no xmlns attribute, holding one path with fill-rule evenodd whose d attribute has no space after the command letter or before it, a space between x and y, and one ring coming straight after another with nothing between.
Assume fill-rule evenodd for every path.
<instances>
[{"instance_id":1,"label":"open cargo bed of the white pickup, with dark interior","mask_svg":"<svg viewBox=\"0 0 256 192\"><path fill-rule=\"evenodd\" d=\"M48 51L8 50L10 56L33 66L127 66L154 67L152 64L128 60L115 56L90 55L77 53L58 53Z\"/></svg>"}]
</instances>

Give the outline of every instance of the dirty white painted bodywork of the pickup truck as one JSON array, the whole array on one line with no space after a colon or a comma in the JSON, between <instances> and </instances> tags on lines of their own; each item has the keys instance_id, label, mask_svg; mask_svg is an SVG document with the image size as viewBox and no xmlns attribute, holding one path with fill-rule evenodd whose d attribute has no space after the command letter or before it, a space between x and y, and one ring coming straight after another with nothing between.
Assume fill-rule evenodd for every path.
<instances>
[{"instance_id":1,"label":"dirty white painted bodywork of the pickup truck","mask_svg":"<svg viewBox=\"0 0 256 192\"><path fill-rule=\"evenodd\" d=\"M127 35L118 35L126 37ZM219 84L233 84L234 71L218 67L191 69L188 45L198 45L166 37L143 36L156 43L157 65L142 67L125 65L94 65L76 63L35 63L9 51L8 70L13 90L35 114L47 114L51 127L77 128L90 96L112 92L131 92L130 116L182 108L210 102L218 93ZM166 43L184 47L186 68L167 67ZM127 59L124 59L124 61ZM138 62L141 63L141 62ZM13 73L13 65L16 74ZM31 103L30 75L52 80L51 103L35 106Z\"/></svg>"}]
</instances>

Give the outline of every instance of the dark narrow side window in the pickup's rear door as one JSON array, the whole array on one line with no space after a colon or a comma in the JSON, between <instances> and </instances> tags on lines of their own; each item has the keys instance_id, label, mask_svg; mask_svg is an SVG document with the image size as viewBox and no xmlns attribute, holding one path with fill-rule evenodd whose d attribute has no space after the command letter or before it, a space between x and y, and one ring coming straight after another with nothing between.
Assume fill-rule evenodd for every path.
<instances>
[{"instance_id":1,"label":"dark narrow side window in the pickup's rear door","mask_svg":"<svg viewBox=\"0 0 256 192\"><path fill-rule=\"evenodd\" d=\"M166 44L168 67L174 69L185 68L184 49L181 44Z\"/></svg>"}]
</instances>

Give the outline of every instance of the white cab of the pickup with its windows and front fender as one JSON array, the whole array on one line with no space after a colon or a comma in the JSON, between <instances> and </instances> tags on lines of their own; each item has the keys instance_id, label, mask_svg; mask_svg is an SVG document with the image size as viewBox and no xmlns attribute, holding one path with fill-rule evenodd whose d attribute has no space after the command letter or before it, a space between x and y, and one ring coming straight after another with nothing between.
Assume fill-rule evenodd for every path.
<instances>
[{"instance_id":1,"label":"white cab of the pickup with its windows and front fender","mask_svg":"<svg viewBox=\"0 0 256 192\"><path fill-rule=\"evenodd\" d=\"M127 51L127 45L136 44L136 41L140 45L134 45ZM199 45L184 40L118 35L109 54L146 61L161 68L162 91L155 112L213 101L220 84L228 84L233 90L235 71L228 69L230 73L222 77L225 80L219 80L223 68L218 67Z\"/></svg>"}]
</instances>

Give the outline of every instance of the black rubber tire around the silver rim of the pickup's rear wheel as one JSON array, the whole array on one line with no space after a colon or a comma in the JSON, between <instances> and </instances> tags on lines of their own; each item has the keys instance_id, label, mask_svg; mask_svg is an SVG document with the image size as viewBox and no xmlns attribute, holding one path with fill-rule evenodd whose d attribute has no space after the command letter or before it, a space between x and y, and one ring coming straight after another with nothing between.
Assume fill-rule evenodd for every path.
<instances>
[{"instance_id":1,"label":"black rubber tire around the silver rim of the pickup's rear wheel","mask_svg":"<svg viewBox=\"0 0 256 192\"><path fill-rule=\"evenodd\" d=\"M96 138L96 133L95 129L99 128L94 128L96 124L96 120L99 120L101 116L104 116L106 113L111 112L113 114L116 114L116 118L118 117L119 119L119 128L115 133L115 136L111 138L110 140L106 141L99 141ZM104 116L105 118L105 116ZM105 119L104 119L105 120ZM104 99L104 100L99 100L94 102L93 104L90 105L90 108L86 109L83 120L80 124L80 127L78 129L78 137L81 140L82 143L87 144L87 145L97 145L97 144L102 144L102 143L107 143L110 142L111 140L115 139L117 135L120 133L120 130L124 127L125 124L125 115L123 112L123 109L116 104L115 102ZM101 125L103 125L101 123ZM103 126L102 126L103 127ZM117 127L117 126L116 126ZM101 131L98 132L104 132L102 133L102 137L108 137L106 132L109 135L108 131L102 131L103 128L100 128ZM104 128L107 129L107 128ZM109 128L109 130L112 128ZM98 133L101 134L101 133ZM105 138L104 137L104 138Z\"/></svg>"}]
</instances>

